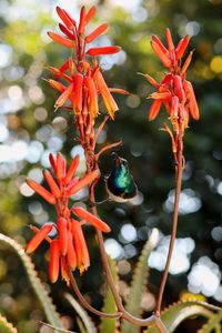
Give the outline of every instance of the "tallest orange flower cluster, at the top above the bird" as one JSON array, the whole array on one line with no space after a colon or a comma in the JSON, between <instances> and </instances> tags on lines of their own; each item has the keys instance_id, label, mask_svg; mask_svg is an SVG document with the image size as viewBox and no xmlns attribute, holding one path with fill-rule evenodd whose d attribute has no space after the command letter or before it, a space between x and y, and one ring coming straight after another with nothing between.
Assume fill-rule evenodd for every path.
<instances>
[{"instance_id":1,"label":"tallest orange flower cluster, at the top above the bird","mask_svg":"<svg viewBox=\"0 0 222 333\"><path fill-rule=\"evenodd\" d=\"M49 70L53 73L53 79L48 80L48 82L61 92L54 107L60 108L69 101L69 109L72 109L77 115L80 128L81 123L84 124L84 132L90 135L92 134L92 129L90 128L92 127L93 119L99 114L99 95L102 97L111 119L114 118L114 112L119 109L103 79L95 57L117 53L121 48L117 46L89 47L91 42L108 29L108 24L102 23L85 36L85 28L95 14L95 7L92 7L89 11L85 11L84 7L81 8L79 24L77 24L64 9L57 7L57 12L62 21L62 23L59 23L59 28L65 37L56 32L48 32L48 34L53 41L73 49L74 59L68 59L59 69L49 67ZM87 56L93 57L93 64L90 64L90 62L85 60ZM67 74L67 71L69 71L70 74ZM58 79L64 80L68 85L59 82ZM119 89L117 89L117 91L112 89L112 91L127 93L124 90Z\"/></svg>"}]
</instances>

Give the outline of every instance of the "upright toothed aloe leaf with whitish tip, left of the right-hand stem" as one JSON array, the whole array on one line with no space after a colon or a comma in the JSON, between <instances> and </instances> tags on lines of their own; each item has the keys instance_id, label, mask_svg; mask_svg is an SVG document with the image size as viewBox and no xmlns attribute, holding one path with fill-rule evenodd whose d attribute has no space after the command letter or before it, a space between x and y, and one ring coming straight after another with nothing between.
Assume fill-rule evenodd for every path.
<instances>
[{"instance_id":1,"label":"upright toothed aloe leaf with whitish tip, left of the right-hand stem","mask_svg":"<svg viewBox=\"0 0 222 333\"><path fill-rule=\"evenodd\" d=\"M148 276L149 276L149 268L148 268L148 259L150 256L151 251L155 248L159 239L159 233L157 229L153 229L150 239L147 241L140 258L138 260L138 264L134 269L134 273L132 276L132 283L130 287L129 299L125 305L125 310L133 314L134 316L140 317L142 313L142 309L140 307L142 294L147 289ZM122 321L121 323L121 333L139 333L140 327L135 327L132 324Z\"/></svg>"}]
</instances>

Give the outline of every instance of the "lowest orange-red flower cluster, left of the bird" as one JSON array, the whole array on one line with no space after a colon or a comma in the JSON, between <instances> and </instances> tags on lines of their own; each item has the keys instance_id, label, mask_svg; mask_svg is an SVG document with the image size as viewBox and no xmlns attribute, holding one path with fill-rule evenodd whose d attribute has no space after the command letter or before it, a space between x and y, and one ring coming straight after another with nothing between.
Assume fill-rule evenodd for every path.
<instances>
[{"instance_id":1,"label":"lowest orange-red flower cluster, left of the bird","mask_svg":"<svg viewBox=\"0 0 222 333\"><path fill-rule=\"evenodd\" d=\"M79 155L74 157L68 170L67 162L60 153L57 157L50 154L49 160L54 173L53 176L50 171L43 171L49 190L33 180L27 180L27 183L48 203L54 205L58 219L57 223L46 223L37 231L27 245L27 252L32 253L43 240L47 240L50 243L49 279L56 282L61 272L62 279L69 284L67 268L71 270L78 268L82 273L90 265L89 251L82 231L83 224L89 222L102 232L109 232L110 228L83 208L70 209L68 206L69 198L95 181L99 178L99 171L95 170L79 179L73 176L79 164ZM52 240L49 234L53 229L57 235Z\"/></svg>"}]
</instances>

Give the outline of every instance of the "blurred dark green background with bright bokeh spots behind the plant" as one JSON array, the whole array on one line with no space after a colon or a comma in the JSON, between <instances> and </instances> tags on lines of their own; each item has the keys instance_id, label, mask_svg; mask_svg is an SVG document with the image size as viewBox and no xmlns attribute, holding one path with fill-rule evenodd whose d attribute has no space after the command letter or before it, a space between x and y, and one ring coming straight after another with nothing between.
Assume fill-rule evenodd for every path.
<instances>
[{"instance_id":1,"label":"blurred dark green background with bright bokeh spots behind the plant","mask_svg":"<svg viewBox=\"0 0 222 333\"><path fill-rule=\"evenodd\" d=\"M54 112L58 93L42 78L47 65L59 67L69 57L67 50L51 42L48 30L57 30L56 6L77 18L80 4L97 4L94 24L107 21L109 32L101 46L119 44L117 56L103 57L101 65L110 87L132 92L117 97L120 111L114 122L100 135L100 144L123 140L118 153L128 159L139 186L131 204L103 203L99 213L112 228L107 235L108 253L118 261L122 293L128 292L131 270L153 228L159 243L149 259L149 293L143 302L145 314L153 310L171 232L174 165L171 142L159 131L167 114L147 121L153 91L137 72L161 80L163 68L150 47L151 34L164 40L165 28L174 41L189 33L190 50L195 49L188 78L193 82L201 119L191 120L185 133L186 167L180 202L179 230L164 305L178 301L181 293L202 293L213 304L222 303L222 1L221 0L1 0L0 1L0 232L26 244L32 235L29 223L41 226L53 221L54 213L28 189L26 178L42 181L42 168L49 167L49 152L61 151L68 160L80 153L74 143L72 115ZM91 28L94 27L93 24ZM102 120L102 115L100 118ZM103 175L112 168L110 153L100 160ZM97 200L107 198L104 184L97 189ZM73 198L87 203L87 192ZM95 307L102 306L102 271L93 230L85 228L91 266L79 284ZM43 283L48 283L48 245L33 254ZM78 274L77 274L78 276ZM73 313L63 300L63 282L47 284L58 311L75 329ZM46 320L27 274L17 255L0 245L0 312L22 333L38 332L36 321ZM98 319L94 319L98 322ZM178 332L195 332L196 321L181 325Z\"/></svg>"}]
</instances>

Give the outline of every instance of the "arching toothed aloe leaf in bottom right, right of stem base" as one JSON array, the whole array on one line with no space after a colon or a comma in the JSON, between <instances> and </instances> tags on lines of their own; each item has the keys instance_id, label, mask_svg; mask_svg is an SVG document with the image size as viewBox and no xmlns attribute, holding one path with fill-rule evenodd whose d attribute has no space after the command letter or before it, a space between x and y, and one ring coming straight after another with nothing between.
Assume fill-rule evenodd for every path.
<instances>
[{"instance_id":1,"label":"arching toothed aloe leaf in bottom right, right of stem base","mask_svg":"<svg viewBox=\"0 0 222 333\"><path fill-rule=\"evenodd\" d=\"M161 320L167 326L169 332L174 332L174 330L186 319L193 315L204 316L211 319L213 312L211 311L214 306L198 301L178 302L170 305L161 314ZM148 330L149 333L159 333L157 327L151 327Z\"/></svg>"}]
</instances>

